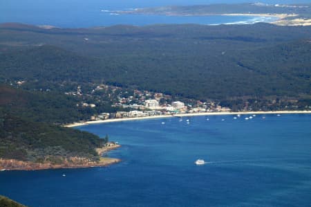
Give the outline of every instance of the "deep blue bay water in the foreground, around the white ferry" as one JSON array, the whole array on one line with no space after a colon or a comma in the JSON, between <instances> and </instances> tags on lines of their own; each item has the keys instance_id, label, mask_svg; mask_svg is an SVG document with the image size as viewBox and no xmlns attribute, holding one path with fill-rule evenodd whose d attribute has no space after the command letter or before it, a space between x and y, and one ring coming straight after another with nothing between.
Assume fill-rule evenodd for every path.
<instances>
[{"instance_id":1,"label":"deep blue bay water in the foreground, around the white ferry","mask_svg":"<svg viewBox=\"0 0 311 207\"><path fill-rule=\"evenodd\" d=\"M311 115L233 117L78 127L119 141L109 156L122 162L0 172L0 195L29 206L310 206Z\"/></svg>"}]
</instances>

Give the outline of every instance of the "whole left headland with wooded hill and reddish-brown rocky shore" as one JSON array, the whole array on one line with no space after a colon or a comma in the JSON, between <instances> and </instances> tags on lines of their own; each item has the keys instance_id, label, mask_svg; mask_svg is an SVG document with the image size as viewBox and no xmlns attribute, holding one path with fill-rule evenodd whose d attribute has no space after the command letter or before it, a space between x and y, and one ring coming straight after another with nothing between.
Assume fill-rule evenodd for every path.
<instances>
[{"instance_id":1,"label":"whole left headland with wooded hill and reddish-brown rocky shore","mask_svg":"<svg viewBox=\"0 0 311 207\"><path fill-rule=\"evenodd\" d=\"M88 168L120 162L120 159L102 156L120 147L109 141L108 136L100 138L61 127L55 120L62 120L64 116L55 111L53 118L48 118L49 112L39 112L39 102L47 107L46 102L57 100L50 98L0 85L1 171ZM66 101L63 103L68 105ZM62 111L59 107L57 110ZM69 112L68 108L66 111ZM44 116L41 117L41 113Z\"/></svg>"}]
</instances>

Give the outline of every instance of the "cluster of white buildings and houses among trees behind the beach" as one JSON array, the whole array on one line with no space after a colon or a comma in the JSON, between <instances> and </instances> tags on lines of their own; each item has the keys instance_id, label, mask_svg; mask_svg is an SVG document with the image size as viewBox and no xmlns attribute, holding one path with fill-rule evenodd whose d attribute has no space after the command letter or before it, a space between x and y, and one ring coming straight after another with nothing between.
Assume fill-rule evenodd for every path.
<instances>
[{"instance_id":1,"label":"cluster of white buildings and houses among trees behind the beach","mask_svg":"<svg viewBox=\"0 0 311 207\"><path fill-rule=\"evenodd\" d=\"M108 120L117 118L135 118L162 115L195 114L205 112L229 112L228 107L221 107L216 102L173 98L171 95L138 89L122 89L107 84L99 84L89 91L81 86L77 91L66 92L67 95L84 97L77 106L95 109L101 102L111 103L117 111L100 111L90 120Z\"/></svg>"}]
</instances>

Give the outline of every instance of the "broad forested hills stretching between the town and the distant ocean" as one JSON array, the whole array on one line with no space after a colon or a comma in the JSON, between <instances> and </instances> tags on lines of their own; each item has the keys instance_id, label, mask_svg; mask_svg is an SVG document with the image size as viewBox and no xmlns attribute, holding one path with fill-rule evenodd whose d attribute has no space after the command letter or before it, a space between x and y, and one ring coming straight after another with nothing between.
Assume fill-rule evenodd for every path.
<instances>
[{"instance_id":1,"label":"broad forested hills stretching between the town and the distant ocean","mask_svg":"<svg viewBox=\"0 0 311 207\"><path fill-rule=\"evenodd\" d=\"M308 98L310 34L308 26L270 24L51 30L3 24L0 77L44 80L50 88L105 82L202 100Z\"/></svg>"}]
</instances>

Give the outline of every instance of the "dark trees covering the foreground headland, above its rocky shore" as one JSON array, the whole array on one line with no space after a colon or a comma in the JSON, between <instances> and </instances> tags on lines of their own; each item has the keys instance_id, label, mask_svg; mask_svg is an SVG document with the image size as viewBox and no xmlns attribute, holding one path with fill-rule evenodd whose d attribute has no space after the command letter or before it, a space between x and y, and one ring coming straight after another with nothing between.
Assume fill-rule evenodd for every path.
<instances>
[{"instance_id":1,"label":"dark trees covering the foreground headland, above its rocky shore","mask_svg":"<svg viewBox=\"0 0 311 207\"><path fill-rule=\"evenodd\" d=\"M95 147L103 140L98 136L77 129L35 123L10 114L1 116L0 157L21 161L43 162L57 157L87 157L99 159Z\"/></svg>"}]
</instances>

